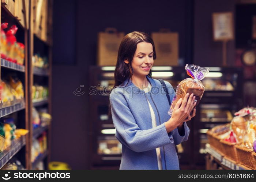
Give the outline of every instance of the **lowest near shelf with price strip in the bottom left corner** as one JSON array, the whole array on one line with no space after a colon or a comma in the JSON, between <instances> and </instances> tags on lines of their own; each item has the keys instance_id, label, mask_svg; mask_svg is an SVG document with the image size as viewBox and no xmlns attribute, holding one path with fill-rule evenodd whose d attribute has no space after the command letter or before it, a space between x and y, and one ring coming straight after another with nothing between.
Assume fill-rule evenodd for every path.
<instances>
[{"instance_id":1,"label":"lowest near shelf with price strip in the bottom left corner","mask_svg":"<svg viewBox=\"0 0 256 182\"><path fill-rule=\"evenodd\" d=\"M12 140L11 146L7 147L7 149L0 153L0 169L25 145L26 135Z\"/></svg>"}]
</instances>

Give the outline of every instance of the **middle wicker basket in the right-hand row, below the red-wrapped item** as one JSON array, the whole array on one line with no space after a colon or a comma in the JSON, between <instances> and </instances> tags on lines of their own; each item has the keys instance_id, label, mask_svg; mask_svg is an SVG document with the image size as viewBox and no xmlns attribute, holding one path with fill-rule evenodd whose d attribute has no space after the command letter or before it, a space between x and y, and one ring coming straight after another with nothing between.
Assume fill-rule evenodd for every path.
<instances>
[{"instance_id":1,"label":"middle wicker basket in the right-hand row, below the red-wrapped item","mask_svg":"<svg viewBox=\"0 0 256 182\"><path fill-rule=\"evenodd\" d=\"M227 157L232 159L235 162L238 162L238 153L236 149L237 143L230 143L225 140L221 140L222 144L222 153Z\"/></svg>"}]
</instances>

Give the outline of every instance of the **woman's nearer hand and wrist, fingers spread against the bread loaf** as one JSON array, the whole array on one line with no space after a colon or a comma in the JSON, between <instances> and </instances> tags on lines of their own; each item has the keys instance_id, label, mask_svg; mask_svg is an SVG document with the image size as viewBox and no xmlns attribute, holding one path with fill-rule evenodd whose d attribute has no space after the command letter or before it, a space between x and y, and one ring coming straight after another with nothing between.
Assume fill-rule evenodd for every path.
<instances>
[{"instance_id":1,"label":"woman's nearer hand and wrist, fingers spread against the bread loaf","mask_svg":"<svg viewBox=\"0 0 256 182\"><path fill-rule=\"evenodd\" d=\"M187 93L183 100L181 98L178 100L173 109L172 117L165 123L167 133L182 124L192 111L193 107L196 106L196 102L194 102L195 96L193 95L194 94L190 94L189 96L189 93Z\"/></svg>"}]
</instances>

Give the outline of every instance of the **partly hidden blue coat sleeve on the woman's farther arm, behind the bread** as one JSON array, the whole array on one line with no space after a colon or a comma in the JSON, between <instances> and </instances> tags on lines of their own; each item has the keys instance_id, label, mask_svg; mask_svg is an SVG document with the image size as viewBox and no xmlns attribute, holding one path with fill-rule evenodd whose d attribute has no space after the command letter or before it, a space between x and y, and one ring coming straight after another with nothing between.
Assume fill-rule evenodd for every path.
<instances>
[{"instance_id":1,"label":"partly hidden blue coat sleeve on the woman's farther arm, behind the bread","mask_svg":"<svg viewBox=\"0 0 256 182\"><path fill-rule=\"evenodd\" d=\"M167 82L167 81L164 81L164 82L167 86L169 96L170 96L170 99L172 102L172 100L175 96L175 90L169 82ZM179 145L181 142L188 140L189 132L190 132L189 127L187 126L187 123L184 122L183 123L183 131L182 131L183 135L180 135L180 133L178 132L178 128L175 128L173 131L169 132L168 135L173 138L175 145Z\"/></svg>"}]
</instances>

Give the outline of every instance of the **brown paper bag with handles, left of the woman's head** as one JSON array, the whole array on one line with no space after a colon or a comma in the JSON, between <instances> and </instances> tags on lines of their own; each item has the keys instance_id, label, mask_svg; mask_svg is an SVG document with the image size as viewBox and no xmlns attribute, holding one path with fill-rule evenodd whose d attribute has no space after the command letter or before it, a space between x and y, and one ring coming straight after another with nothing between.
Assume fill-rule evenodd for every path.
<instances>
[{"instance_id":1,"label":"brown paper bag with handles, left of the woman's head","mask_svg":"<svg viewBox=\"0 0 256 182\"><path fill-rule=\"evenodd\" d=\"M106 28L98 33L98 66L116 66L118 48L124 32L117 32L115 28Z\"/></svg>"}]
</instances>

